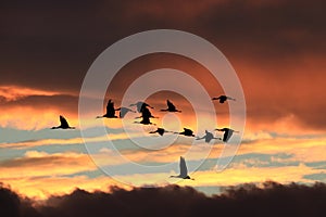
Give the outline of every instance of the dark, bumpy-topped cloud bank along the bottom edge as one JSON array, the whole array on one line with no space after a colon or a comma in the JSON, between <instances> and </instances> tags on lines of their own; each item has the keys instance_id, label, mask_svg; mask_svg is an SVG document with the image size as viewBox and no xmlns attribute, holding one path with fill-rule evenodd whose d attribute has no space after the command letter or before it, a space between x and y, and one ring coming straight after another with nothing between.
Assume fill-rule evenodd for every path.
<instances>
[{"instance_id":1,"label":"dark, bumpy-topped cloud bank along the bottom edge","mask_svg":"<svg viewBox=\"0 0 326 217\"><path fill-rule=\"evenodd\" d=\"M75 190L52 196L36 208L10 189L0 189L5 216L323 216L326 186L244 184L211 197L190 187L112 189L112 193ZM23 203L24 202L24 203Z\"/></svg>"}]
</instances>

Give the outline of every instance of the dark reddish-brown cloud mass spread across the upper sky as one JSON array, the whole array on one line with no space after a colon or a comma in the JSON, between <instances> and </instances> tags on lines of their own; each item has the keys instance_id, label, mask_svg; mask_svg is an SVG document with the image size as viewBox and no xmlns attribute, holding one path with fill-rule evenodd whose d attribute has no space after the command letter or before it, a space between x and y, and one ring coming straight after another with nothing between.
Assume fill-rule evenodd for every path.
<instances>
[{"instance_id":1,"label":"dark reddish-brown cloud mass spread across the upper sky","mask_svg":"<svg viewBox=\"0 0 326 217\"><path fill-rule=\"evenodd\" d=\"M250 118L269 122L293 114L303 126L325 128L321 117L326 108L325 4L323 0L2 2L0 86L77 93L90 64L109 46L138 31L175 28L206 38L230 60L243 85ZM143 72L147 64L134 68ZM125 77L121 80L129 82ZM62 102L77 110L76 101Z\"/></svg>"}]
</instances>

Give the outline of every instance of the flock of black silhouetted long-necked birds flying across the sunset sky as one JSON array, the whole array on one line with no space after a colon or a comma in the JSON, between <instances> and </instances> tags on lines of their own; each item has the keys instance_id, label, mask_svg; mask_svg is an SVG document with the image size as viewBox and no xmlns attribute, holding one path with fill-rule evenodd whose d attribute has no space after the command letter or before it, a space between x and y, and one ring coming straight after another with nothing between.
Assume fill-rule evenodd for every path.
<instances>
[{"instance_id":1,"label":"flock of black silhouetted long-necked birds flying across the sunset sky","mask_svg":"<svg viewBox=\"0 0 326 217\"><path fill-rule=\"evenodd\" d=\"M227 100L236 101L236 99L227 97L227 95L220 95L217 98L212 98L213 101L218 100L220 103L224 103ZM170 101L166 100L167 107L161 110L161 112L173 112L173 113L180 113L180 110L177 110L176 106ZM134 122L135 124L142 124L142 125L155 125L151 123L150 118L156 118L154 117L149 108L154 108L147 104L146 102L137 102L134 104L130 104L129 107L136 106L136 110L138 113L141 114L141 116L136 117L136 118L141 118L140 122ZM96 118L124 118L127 113L136 113L136 111L129 108L129 107L114 107L114 102L110 99L108 104L106 104L106 112L105 114L101 116L97 116ZM116 111L120 111L118 116L115 115ZM67 120L60 115L60 126L52 127L51 129L75 129L75 127L71 127L67 123ZM205 130L205 135L203 137L198 137L193 135L193 131L188 128L184 128L184 131L181 132L175 132L175 131L168 131L164 128L156 128L154 131L150 131L149 133L159 133L160 136L163 136L165 132L172 132L172 133L177 133L177 135L183 135L185 137L196 137L196 140L202 140L204 139L206 143L211 142L213 139L222 140L223 142L228 142L230 137L233 136L234 132L239 132L230 128L217 128L215 131L223 131L223 138L216 138L214 135L208 130ZM180 162L179 162L179 169L180 174L178 176L171 176L171 178L181 178L181 179L191 179L188 176L188 169L186 166L186 161L184 157L180 156Z\"/></svg>"}]
</instances>

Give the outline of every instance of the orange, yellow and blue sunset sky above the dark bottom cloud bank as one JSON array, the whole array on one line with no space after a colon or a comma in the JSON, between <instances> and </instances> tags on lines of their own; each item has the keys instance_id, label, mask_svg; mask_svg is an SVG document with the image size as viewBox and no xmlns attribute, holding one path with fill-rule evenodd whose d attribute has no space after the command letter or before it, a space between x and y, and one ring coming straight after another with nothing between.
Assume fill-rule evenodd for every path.
<instances>
[{"instance_id":1,"label":"orange, yellow and blue sunset sky above the dark bottom cloud bank","mask_svg":"<svg viewBox=\"0 0 326 217\"><path fill-rule=\"evenodd\" d=\"M325 182L324 8L322 0L1 2L0 181L36 199L71 193L76 188L164 187L175 183L168 177L178 174L179 156L187 155L195 181L177 183L209 195L224 187L266 180ZM234 137L241 144L223 171L216 171L216 162L228 144L218 140L208 144L181 136L163 139L149 135L155 126L129 123L138 114L128 114L126 120L95 118L103 114L109 99L121 106L134 80L160 68L190 75L211 98L223 93L223 84L187 56L155 53L133 60L108 84L104 99L90 95L103 106L90 110L86 118L78 116L83 81L95 60L116 41L152 29L177 29L204 38L226 56L239 78L244 99L214 102L214 114L203 106L192 107L200 102L200 94L188 82L178 86L190 92L193 101L172 91L153 92L146 99L159 116L153 119L156 126L175 131L188 127L198 136L205 129L197 127L197 115L213 131L229 126L230 106L246 103L246 127L233 126L241 128ZM183 113L161 113L166 99ZM51 130L59 125L59 115L76 129ZM210 115L217 118L218 126ZM129 135L124 131L126 126ZM166 138L173 142L164 146ZM138 173L123 164L108 146L110 141L127 159L158 170ZM88 153L85 142L93 153ZM155 150L155 144L164 149ZM168 166L159 169L158 165ZM108 167L114 177L103 171Z\"/></svg>"}]
</instances>

